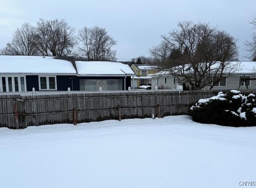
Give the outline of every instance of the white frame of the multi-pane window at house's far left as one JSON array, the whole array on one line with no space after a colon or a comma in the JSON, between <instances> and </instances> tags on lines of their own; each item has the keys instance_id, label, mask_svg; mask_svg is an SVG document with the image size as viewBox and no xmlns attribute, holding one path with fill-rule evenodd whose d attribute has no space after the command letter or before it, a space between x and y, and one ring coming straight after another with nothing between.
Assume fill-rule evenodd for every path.
<instances>
[{"instance_id":1,"label":"white frame of the multi-pane window at house's far left","mask_svg":"<svg viewBox=\"0 0 256 188\"><path fill-rule=\"evenodd\" d=\"M12 91L9 91L9 84L8 84L8 77L12 77ZM14 84L14 77L18 77L18 87L19 90L15 91L15 84ZM21 82L20 77L24 77L24 91L21 91ZM27 91L27 84L26 84L26 75L18 76L18 75L0 75L0 92L3 92L3 83L2 78L5 78L6 83L6 92L26 92Z\"/></svg>"}]
</instances>

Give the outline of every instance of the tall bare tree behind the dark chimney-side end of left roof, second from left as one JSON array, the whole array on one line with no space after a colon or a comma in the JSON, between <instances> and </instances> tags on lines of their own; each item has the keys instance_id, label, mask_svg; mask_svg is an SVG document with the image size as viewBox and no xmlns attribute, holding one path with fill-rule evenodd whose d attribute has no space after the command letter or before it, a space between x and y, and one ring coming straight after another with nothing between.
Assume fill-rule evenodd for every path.
<instances>
[{"instance_id":1,"label":"tall bare tree behind the dark chimney-side end of left roof, second from left","mask_svg":"<svg viewBox=\"0 0 256 188\"><path fill-rule=\"evenodd\" d=\"M75 29L65 19L37 22L37 47L42 55L67 56L76 45Z\"/></svg>"}]
</instances>

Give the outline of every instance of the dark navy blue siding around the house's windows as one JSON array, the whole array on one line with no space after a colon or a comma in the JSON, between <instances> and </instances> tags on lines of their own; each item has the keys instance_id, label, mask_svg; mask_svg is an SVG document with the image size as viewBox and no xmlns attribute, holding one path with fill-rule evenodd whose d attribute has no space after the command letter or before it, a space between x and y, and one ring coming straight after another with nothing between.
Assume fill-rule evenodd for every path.
<instances>
[{"instance_id":1,"label":"dark navy blue siding around the house's windows","mask_svg":"<svg viewBox=\"0 0 256 188\"><path fill-rule=\"evenodd\" d=\"M71 79L73 78L73 79ZM67 91L68 87L72 90L72 80L73 80L73 90L80 90L79 80L111 80L111 79L122 79L123 90L124 90L124 76L56 76L57 90ZM26 76L27 91L32 91L34 87L36 91L39 91L38 75L27 75ZM131 77L126 77L126 90L131 86Z\"/></svg>"}]
</instances>

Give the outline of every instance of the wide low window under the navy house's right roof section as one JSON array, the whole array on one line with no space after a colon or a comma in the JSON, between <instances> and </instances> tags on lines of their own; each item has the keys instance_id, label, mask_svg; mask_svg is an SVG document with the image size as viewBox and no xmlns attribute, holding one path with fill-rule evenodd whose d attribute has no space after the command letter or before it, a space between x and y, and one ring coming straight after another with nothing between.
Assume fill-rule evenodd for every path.
<instances>
[{"instance_id":1,"label":"wide low window under the navy house's right roof section","mask_svg":"<svg viewBox=\"0 0 256 188\"><path fill-rule=\"evenodd\" d=\"M80 90L96 91L102 90L122 90L122 80L80 80Z\"/></svg>"}]
</instances>

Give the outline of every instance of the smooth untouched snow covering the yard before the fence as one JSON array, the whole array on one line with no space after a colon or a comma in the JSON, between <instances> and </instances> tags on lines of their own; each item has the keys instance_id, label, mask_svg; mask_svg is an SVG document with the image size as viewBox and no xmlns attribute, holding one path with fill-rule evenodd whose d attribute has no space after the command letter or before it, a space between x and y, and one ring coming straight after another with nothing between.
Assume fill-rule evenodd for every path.
<instances>
[{"instance_id":1,"label":"smooth untouched snow covering the yard before the fence","mask_svg":"<svg viewBox=\"0 0 256 188\"><path fill-rule=\"evenodd\" d=\"M1 188L236 188L256 180L256 127L190 116L0 128Z\"/></svg>"}]
</instances>

